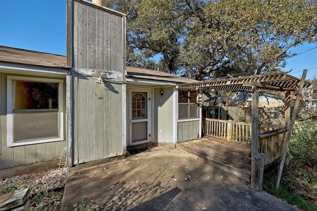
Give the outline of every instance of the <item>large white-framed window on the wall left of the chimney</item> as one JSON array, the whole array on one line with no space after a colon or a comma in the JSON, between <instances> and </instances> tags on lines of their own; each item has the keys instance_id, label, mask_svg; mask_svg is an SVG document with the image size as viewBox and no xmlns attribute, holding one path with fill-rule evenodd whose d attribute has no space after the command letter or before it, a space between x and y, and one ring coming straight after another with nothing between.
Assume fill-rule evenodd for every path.
<instances>
[{"instance_id":1,"label":"large white-framed window on the wall left of the chimney","mask_svg":"<svg viewBox=\"0 0 317 211\"><path fill-rule=\"evenodd\" d=\"M7 77L7 145L63 140L63 80Z\"/></svg>"}]
</instances>

